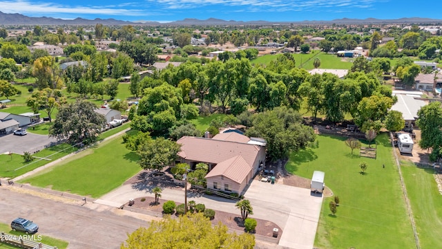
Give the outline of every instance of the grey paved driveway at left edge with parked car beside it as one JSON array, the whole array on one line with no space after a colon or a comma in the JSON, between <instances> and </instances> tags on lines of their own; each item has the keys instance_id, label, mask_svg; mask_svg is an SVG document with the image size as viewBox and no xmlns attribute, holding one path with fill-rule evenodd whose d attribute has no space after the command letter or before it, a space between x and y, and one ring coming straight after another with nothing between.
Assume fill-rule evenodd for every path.
<instances>
[{"instance_id":1,"label":"grey paved driveway at left edge with parked car beside it","mask_svg":"<svg viewBox=\"0 0 442 249\"><path fill-rule=\"evenodd\" d=\"M12 151L16 154L23 154L24 151L34 152L44 149L50 142L57 142L55 138L49 138L48 135L38 135L28 132L25 136L8 134L0 136L0 154Z\"/></svg>"}]
</instances>

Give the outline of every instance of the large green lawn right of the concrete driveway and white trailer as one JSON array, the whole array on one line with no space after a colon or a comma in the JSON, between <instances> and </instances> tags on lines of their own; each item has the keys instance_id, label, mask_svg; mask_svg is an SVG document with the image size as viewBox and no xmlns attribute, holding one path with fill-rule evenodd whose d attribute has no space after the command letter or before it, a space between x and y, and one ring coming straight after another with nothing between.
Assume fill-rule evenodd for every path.
<instances>
[{"instance_id":1,"label":"large green lawn right of the concrete driveway and white trailer","mask_svg":"<svg viewBox=\"0 0 442 249\"><path fill-rule=\"evenodd\" d=\"M316 247L416 248L389 139L384 133L376 140L377 159L356 156L358 149L352 155L337 136L318 136L318 148L291 154L289 172L305 178L325 172L325 185L340 199L336 216L329 211L332 197L324 199ZM366 174L358 166L363 161Z\"/></svg>"}]
</instances>

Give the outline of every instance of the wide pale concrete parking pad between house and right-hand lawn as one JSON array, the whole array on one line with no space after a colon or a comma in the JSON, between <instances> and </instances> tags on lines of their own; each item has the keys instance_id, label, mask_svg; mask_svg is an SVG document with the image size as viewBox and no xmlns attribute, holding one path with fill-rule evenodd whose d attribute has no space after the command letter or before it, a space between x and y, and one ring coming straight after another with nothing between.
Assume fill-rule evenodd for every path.
<instances>
[{"instance_id":1,"label":"wide pale concrete parking pad between house and right-hand lawn","mask_svg":"<svg viewBox=\"0 0 442 249\"><path fill-rule=\"evenodd\" d=\"M253 181L244 196L253 206L253 216L268 210L263 214L280 225L283 232L279 246L313 248L322 196L312 196L310 190L305 188L260 181Z\"/></svg>"}]
</instances>

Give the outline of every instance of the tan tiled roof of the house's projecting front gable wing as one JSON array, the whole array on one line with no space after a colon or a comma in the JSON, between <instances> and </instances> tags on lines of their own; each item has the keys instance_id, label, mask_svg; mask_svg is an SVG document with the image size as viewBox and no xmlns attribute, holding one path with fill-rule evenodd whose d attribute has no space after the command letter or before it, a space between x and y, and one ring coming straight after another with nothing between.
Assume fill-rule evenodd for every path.
<instances>
[{"instance_id":1,"label":"tan tiled roof of the house's projecting front gable wing","mask_svg":"<svg viewBox=\"0 0 442 249\"><path fill-rule=\"evenodd\" d=\"M247 174L251 171L251 166L242 158L242 156L234 156L218 163L210 172L206 174L206 178L213 176L224 176L236 183L242 183Z\"/></svg>"}]
</instances>

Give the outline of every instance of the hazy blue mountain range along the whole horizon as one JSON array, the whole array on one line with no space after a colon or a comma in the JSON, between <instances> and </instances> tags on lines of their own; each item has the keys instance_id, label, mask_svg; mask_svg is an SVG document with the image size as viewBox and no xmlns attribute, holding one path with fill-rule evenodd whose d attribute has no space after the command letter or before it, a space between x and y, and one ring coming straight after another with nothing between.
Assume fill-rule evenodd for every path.
<instances>
[{"instance_id":1,"label":"hazy blue mountain range along the whole horizon","mask_svg":"<svg viewBox=\"0 0 442 249\"><path fill-rule=\"evenodd\" d=\"M157 21L122 21L117 19L58 19L52 17L27 17L18 13L7 14L0 12L0 24L2 25L182 25L182 26L210 26L210 25L269 25L269 24L442 24L441 19L429 19L421 17L401 19L334 19L331 21L226 21L222 19L209 18L184 19L161 24Z\"/></svg>"}]
</instances>

